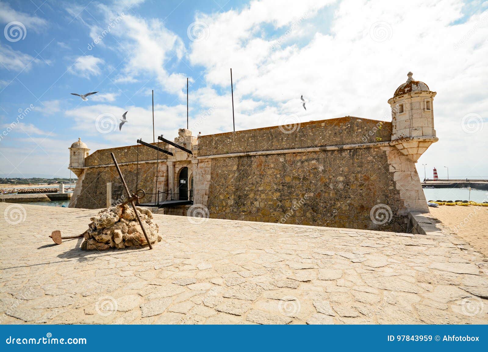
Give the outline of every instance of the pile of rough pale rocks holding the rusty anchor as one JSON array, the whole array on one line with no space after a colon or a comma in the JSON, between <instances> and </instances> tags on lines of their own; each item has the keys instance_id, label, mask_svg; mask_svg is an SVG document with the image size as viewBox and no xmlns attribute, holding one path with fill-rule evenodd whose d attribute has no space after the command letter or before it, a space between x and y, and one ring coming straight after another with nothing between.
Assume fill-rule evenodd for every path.
<instances>
[{"instance_id":1,"label":"pile of rough pale rocks holding the rusty anchor","mask_svg":"<svg viewBox=\"0 0 488 352\"><path fill-rule=\"evenodd\" d=\"M163 240L159 234L158 224L152 221L151 211L140 207L136 207L136 209L151 244ZM92 223L84 233L81 249L104 250L131 246L139 247L147 244L136 214L132 206L128 204L111 206L101 210L90 220Z\"/></svg>"}]
</instances>

